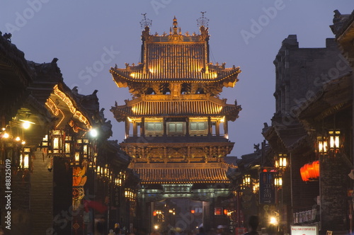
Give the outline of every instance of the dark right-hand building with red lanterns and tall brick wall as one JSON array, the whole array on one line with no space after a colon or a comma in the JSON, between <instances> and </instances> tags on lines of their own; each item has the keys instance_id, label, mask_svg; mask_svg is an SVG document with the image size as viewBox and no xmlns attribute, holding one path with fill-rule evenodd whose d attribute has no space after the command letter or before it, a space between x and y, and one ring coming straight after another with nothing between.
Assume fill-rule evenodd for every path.
<instances>
[{"instance_id":1,"label":"dark right-hand building with red lanterns and tall brick wall","mask_svg":"<svg viewBox=\"0 0 354 235\"><path fill-rule=\"evenodd\" d=\"M285 232L292 224L316 224L321 234L348 234L353 228L348 176L353 168L353 67L347 52L353 45L343 47L338 33L353 27L353 14L336 12L333 23L336 38L326 39L325 48L299 48L296 35L289 35L274 61L276 112L263 136L273 156L286 154L289 163L280 207Z\"/></svg>"}]
</instances>

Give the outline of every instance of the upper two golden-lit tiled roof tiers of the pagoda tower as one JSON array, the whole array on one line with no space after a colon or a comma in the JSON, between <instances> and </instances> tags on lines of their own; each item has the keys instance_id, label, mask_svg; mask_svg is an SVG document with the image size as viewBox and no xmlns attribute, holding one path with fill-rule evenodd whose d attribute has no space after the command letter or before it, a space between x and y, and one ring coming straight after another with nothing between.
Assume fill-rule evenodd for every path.
<instances>
[{"instance_id":1,"label":"upper two golden-lit tiled roof tiers of the pagoda tower","mask_svg":"<svg viewBox=\"0 0 354 235\"><path fill-rule=\"evenodd\" d=\"M126 117L205 116L236 120L241 107L217 98L223 87L233 87L239 67L209 62L209 35L205 25L200 34L182 35L176 17L170 33L142 32L142 63L110 69L118 87L129 87L132 101L115 105L111 111L118 122Z\"/></svg>"}]
</instances>

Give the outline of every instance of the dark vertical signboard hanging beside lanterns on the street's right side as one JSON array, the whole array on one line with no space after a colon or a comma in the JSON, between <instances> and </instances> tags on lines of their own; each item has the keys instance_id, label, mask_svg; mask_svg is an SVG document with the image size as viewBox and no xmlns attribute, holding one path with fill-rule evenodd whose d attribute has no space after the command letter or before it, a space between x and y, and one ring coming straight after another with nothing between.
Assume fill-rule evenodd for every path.
<instances>
[{"instance_id":1,"label":"dark vertical signboard hanging beside lanterns on the street's right side","mask_svg":"<svg viewBox=\"0 0 354 235\"><path fill-rule=\"evenodd\" d=\"M275 204L275 172L261 172L259 174L259 203Z\"/></svg>"}]
</instances>

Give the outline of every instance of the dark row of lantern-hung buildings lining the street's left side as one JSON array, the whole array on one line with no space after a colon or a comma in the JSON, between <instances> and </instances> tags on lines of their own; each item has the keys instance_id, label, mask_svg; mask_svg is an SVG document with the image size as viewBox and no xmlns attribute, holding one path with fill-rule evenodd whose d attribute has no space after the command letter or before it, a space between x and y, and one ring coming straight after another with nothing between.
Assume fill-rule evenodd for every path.
<instances>
[{"instance_id":1,"label":"dark row of lantern-hung buildings lining the street's left side","mask_svg":"<svg viewBox=\"0 0 354 235\"><path fill-rule=\"evenodd\" d=\"M97 91L70 89L56 58L27 61L9 34L0 35L0 81L1 229L88 234L100 224L107 234L125 214L130 157L107 140Z\"/></svg>"}]
</instances>

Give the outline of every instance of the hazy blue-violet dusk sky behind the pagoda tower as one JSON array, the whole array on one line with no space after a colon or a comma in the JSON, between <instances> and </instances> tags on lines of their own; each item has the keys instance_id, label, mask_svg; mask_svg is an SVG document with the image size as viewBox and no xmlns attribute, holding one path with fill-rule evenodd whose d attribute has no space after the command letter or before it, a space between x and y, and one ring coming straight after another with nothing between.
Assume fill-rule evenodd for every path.
<instances>
[{"instance_id":1,"label":"hazy blue-violet dusk sky behind the pagoda tower","mask_svg":"<svg viewBox=\"0 0 354 235\"><path fill-rule=\"evenodd\" d=\"M42 63L54 57L70 88L88 95L98 90L105 117L112 121L113 137L122 142L124 125L110 107L131 99L128 88L118 88L109 69L140 61L142 13L152 20L151 33L168 33L176 16L182 33L199 33L197 19L209 19L210 62L241 67L234 88L224 88L220 98L242 110L229 122L232 156L254 151L263 142L263 123L275 113L273 60L282 40L297 35L299 47L325 47L333 38L329 25L333 11L351 13L353 0L227 0L227 1L1 1L0 31L12 33L11 41L25 59Z\"/></svg>"}]
</instances>

